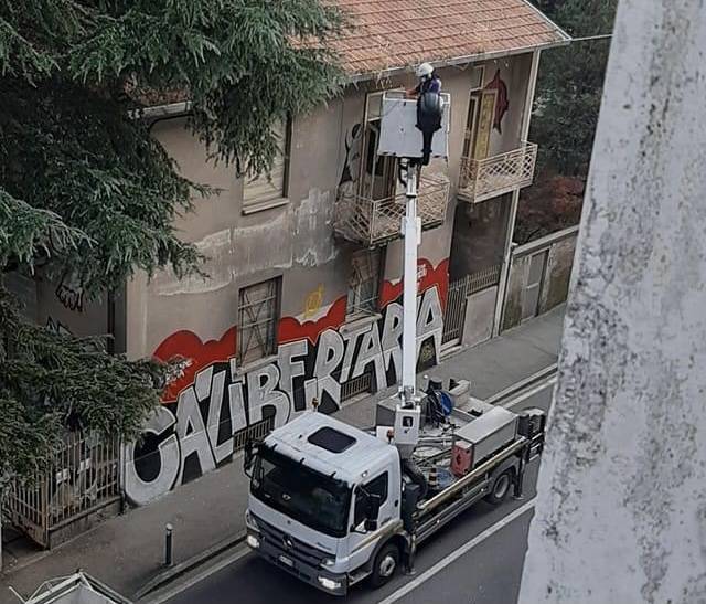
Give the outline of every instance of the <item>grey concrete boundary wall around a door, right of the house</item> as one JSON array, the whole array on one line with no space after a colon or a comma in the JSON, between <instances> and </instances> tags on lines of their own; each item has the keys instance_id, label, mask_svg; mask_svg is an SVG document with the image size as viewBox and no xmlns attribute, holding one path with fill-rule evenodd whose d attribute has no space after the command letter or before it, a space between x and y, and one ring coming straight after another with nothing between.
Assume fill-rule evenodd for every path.
<instances>
[{"instance_id":1,"label":"grey concrete boundary wall around a door, right of the house","mask_svg":"<svg viewBox=\"0 0 706 604\"><path fill-rule=\"evenodd\" d=\"M573 226L513 250L503 310L503 330L522 322L530 263L534 254L548 252L537 315L547 312L566 300L577 236L578 229Z\"/></svg>"}]
</instances>

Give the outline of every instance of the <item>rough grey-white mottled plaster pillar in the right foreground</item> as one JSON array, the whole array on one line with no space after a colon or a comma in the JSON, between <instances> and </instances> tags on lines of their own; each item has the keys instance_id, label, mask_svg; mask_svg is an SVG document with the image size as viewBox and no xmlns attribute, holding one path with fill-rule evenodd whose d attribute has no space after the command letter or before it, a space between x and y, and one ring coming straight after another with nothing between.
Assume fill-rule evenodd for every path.
<instances>
[{"instance_id":1,"label":"rough grey-white mottled plaster pillar in the right foreground","mask_svg":"<svg viewBox=\"0 0 706 604\"><path fill-rule=\"evenodd\" d=\"M522 604L706 602L705 41L620 4Z\"/></svg>"}]
</instances>

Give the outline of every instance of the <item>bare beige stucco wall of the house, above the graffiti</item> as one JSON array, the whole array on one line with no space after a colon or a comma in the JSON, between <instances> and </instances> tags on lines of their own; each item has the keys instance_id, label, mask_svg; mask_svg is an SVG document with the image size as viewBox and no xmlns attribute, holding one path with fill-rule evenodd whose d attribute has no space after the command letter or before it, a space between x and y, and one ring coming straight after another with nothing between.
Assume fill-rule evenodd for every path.
<instances>
[{"instance_id":1,"label":"bare beige stucco wall of the house, above the graffiti","mask_svg":"<svg viewBox=\"0 0 706 604\"><path fill-rule=\"evenodd\" d=\"M509 87L510 108L503 135L493 130L491 152L518 144L531 56L520 55L486 64L488 84L495 70ZM450 157L436 161L429 171L442 171L454 200L459 162L470 94L470 70L440 71L443 89L452 96ZM411 86L414 76L385 83L351 86L346 94L292 125L288 179L289 203L244 215L243 183L233 166L214 165L206 149L185 129L185 118L159 120L153 136L179 163L181 172L221 190L207 200L196 200L196 211L180 218L180 236L195 243L208 256L207 279L178 280L161 272L151 282L143 276L128 284L127 347L131 357L151 354L168 336L186 329L203 341L220 338L237 321L238 289L274 276L282 276L281 316L301 316L307 296L322 292L322 308L345 295L351 254L355 244L334 240L333 211L336 186L345 157L345 137L363 119L365 94L373 89ZM451 253L454 203L443 225L426 231L420 257L437 265ZM501 245L501 243L499 243ZM402 244L387 246L385 278L402 275Z\"/></svg>"}]
</instances>

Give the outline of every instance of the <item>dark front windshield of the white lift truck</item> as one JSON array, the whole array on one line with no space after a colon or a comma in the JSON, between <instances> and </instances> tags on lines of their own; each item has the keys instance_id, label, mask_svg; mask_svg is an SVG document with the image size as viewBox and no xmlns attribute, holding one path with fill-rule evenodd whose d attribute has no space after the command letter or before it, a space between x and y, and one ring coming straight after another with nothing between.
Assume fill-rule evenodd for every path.
<instances>
[{"instance_id":1,"label":"dark front windshield of the white lift truck","mask_svg":"<svg viewBox=\"0 0 706 604\"><path fill-rule=\"evenodd\" d=\"M250 492L290 518L331 537L347 532L351 489L342 480L260 447Z\"/></svg>"}]
</instances>

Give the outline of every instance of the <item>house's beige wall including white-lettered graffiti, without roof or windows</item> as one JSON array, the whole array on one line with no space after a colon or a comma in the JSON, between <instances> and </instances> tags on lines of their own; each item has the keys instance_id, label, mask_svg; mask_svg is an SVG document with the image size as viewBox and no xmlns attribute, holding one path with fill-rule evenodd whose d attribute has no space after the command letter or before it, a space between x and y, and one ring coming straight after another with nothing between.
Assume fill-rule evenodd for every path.
<instances>
[{"instance_id":1,"label":"house's beige wall including white-lettered graffiti, without roof or windows","mask_svg":"<svg viewBox=\"0 0 706 604\"><path fill-rule=\"evenodd\" d=\"M500 70L510 100L502 121L503 134L494 131L491 138L493 153L518 146L530 66L528 55L488 64L485 83ZM425 173L447 178L454 200L470 71L446 68L440 76L445 92L453 99L450 157L448 162L435 160ZM152 126L153 136L175 158L185 177L212 184L221 192L197 200L195 213L181 218L176 224L183 239L194 242L208 256L204 269L210 277L178 280L162 272L149 283L139 276L127 287L129 354L180 359L164 405L147 426L157 435L154 442L148 443L151 448L128 447L126 453L126 490L132 502L159 497L227 463L233 455L229 435L264 417L271 416L280 425L310 406L314 396L323 411L333 411L342 404L342 384L363 373L371 373L373 388L396 382L400 360L402 243L393 241L386 246L379 312L346 321L351 256L361 246L334 237L333 218L339 188L354 187L357 178L356 167L351 166L351 149L361 133L366 94L413 84L409 75L351 86L328 107L297 117L292 125L288 199L247 215L242 208L243 182L234 168L210 162L206 149L184 129L184 118ZM342 182L350 178L353 182ZM502 209L502 202L494 203ZM484 215L492 215L490 222L503 223L501 210ZM449 256L454 253L453 216L451 202L443 225L422 234L418 267L419 368L438 362L440 353ZM502 243L498 242L500 248ZM281 277L282 285L277 351L239 367L235 360L238 292L271 277ZM478 308L486 306L492 305ZM484 321L479 318L473 325L478 328ZM138 458L158 459L160 464L149 468Z\"/></svg>"}]
</instances>

